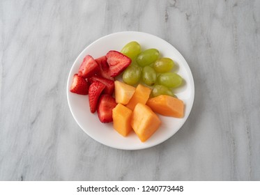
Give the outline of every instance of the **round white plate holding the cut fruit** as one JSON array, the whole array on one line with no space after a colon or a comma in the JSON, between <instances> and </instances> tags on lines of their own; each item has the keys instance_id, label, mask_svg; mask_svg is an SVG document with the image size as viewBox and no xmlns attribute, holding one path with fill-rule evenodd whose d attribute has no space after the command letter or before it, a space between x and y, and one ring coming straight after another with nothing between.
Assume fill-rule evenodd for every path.
<instances>
[{"instance_id":1,"label":"round white plate holding the cut fruit","mask_svg":"<svg viewBox=\"0 0 260 195\"><path fill-rule=\"evenodd\" d=\"M96 112L95 114L91 114L89 111L89 96L70 93L72 77L77 73L84 56L89 54L95 59L104 56L109 50L120 51L125 44L133 40L139 42L142 50L156 48L160 51L161 56L173 59L177 64L175 71L185 80L185 85L175 91L178 98L185 103L184 118L180 119L159 115L162 120L162 125L145 143L142 143L134 132L130 133L128 137L122 137L113 129L112 123L100 123ZM112 148L139 150L162 143L173 136L182 127L192 109L194 101L194 81L188 63L180 52L168 42L148 33L125 31L112 33L95 40L95 42L86 47L86 49L79 54L68 75L67 97L72 116L77 121L79 127L90 137Z\"/></svg>"}]
</instances>

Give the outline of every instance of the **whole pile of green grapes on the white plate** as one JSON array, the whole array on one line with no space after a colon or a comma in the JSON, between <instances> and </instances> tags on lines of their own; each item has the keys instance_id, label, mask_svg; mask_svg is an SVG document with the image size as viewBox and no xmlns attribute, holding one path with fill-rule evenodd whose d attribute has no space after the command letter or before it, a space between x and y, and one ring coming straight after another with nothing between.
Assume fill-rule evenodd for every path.
<instances>
[{"instance_id":1,"label":"whole pile of green grapes on the white plate","mask_svg":"<svg viewBox=\"0 0 260 195\"><path fill-rule=\"evenodd\" d=\"M175 72L171 72L175 64L172 59L160 58L158 49L142 51L138 42L128 42L121 49L121 53L132 59L132 63L123 72L123 81L134 86L139 81L152 86L152 95L175 96L171 88L181 86L183 79Z\"/></svg>"}]
</instances>

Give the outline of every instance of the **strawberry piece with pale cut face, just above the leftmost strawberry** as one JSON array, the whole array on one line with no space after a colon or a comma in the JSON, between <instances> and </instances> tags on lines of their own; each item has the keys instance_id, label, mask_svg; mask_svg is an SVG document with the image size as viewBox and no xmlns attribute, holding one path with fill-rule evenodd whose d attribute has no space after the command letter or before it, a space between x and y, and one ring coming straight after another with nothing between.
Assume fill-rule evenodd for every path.
<instances>
[{"instance_id":1,"label":"strawberry piece with pale cut face, just above the leftmost strawberry","mask_svg":"<svg viewBox=\"0 0 260 195\"><path fill-rule=\"evenodd\" d=\"M83 78L91 77L98 71L98 63L95 62L92 56L87 55L82 64L79 66L79 76Z\"/></svg>"}]
</instances>

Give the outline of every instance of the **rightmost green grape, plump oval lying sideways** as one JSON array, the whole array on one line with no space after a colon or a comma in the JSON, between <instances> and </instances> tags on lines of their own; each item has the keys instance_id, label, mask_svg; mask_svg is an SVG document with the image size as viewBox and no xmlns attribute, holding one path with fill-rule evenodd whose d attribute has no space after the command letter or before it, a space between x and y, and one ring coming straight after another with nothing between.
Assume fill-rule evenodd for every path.
<instances>
[{"instance_id":1,"label":"rightmost green grape, plump oval lying sideways","mask_svg":"<svg viewBox=\"0 0 260 195\"><path fill-rule=\"evenodd\" d=\"M183 79L180 75L174 72L162 73L158 76L158 84L167 86L169 88L176 88L181 86Z\"/></svg>"}]
</instances>

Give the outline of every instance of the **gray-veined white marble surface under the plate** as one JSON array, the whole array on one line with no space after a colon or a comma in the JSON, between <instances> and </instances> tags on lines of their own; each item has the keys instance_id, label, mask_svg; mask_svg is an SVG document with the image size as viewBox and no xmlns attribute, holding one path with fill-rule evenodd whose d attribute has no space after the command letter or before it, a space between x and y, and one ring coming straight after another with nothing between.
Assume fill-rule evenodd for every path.
<instances>
[{"instance_id":1,"label":"gray-veined white marble surface under the plate","mask_svg":"<svg viewBox=\"0 0 260 195\"><path fill-rule=\"evenodd\" d=\"M260 1L0 1L0 180L260 180ZM127 151L70 114L78 54L118 31L174 45L195 83L181 130Z\"/></svg>"}]
</instances>

